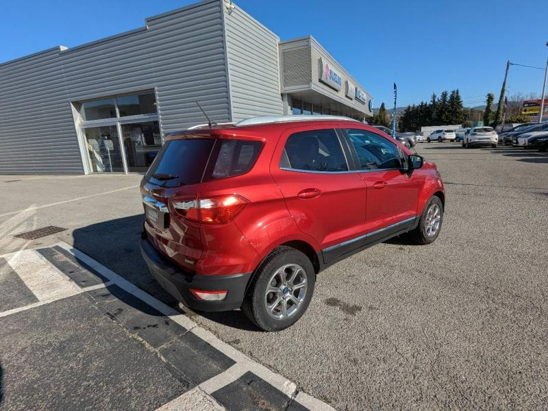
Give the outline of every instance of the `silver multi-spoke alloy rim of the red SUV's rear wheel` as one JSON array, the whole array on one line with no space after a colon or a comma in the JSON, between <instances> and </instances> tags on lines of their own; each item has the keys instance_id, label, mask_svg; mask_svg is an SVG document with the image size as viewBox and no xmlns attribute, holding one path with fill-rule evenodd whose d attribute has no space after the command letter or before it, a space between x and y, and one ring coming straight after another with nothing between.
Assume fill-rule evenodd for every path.
<instances>
[{"instance_id":1,"label":"silver multi-spoke alloy rim of the red SUV's rear wheel","mask_svg":"<svg viewBox=\"0 0 548 411\"><path fill-rule=\"evenodd\" d=\"M281 266L271 276L264 293L266 312L277 320L294 315L305 299L307 288L303 267L299 264Z\"/></svg>"}]
</instances>

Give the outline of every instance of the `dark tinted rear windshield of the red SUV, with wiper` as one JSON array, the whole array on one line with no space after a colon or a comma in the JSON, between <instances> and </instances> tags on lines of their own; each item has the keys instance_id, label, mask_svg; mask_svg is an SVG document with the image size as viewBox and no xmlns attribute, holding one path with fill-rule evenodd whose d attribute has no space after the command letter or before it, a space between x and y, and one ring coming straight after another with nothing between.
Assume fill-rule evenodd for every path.
<instances>
[{"instance_id":1,"label":"dark tinted rear windshield of the red SUV, with wiper","mask_svg":"<svg viewBox=\"0 0 548 411\"><path fill-rule=\"evenodd\" d=\"M165 187L201 182L214 142L212 138L169 140L158 153L145 179Z\"/></svg>"}]
</instances>

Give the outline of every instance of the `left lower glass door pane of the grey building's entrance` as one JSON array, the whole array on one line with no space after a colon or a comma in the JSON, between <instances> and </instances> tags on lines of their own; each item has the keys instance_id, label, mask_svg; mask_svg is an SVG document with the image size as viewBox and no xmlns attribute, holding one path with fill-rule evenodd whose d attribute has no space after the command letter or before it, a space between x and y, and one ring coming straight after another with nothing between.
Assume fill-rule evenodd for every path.
<instances>
[{"instance_id":1,"label":"left lower glass door pane of the grey building's entrance","mask_svg":"<svg viewBox=\"0 0 548 411\"><path fill-rule=\"evenodd\" d=\"M89 127L84 129L84 134L92 171L123 173L124 166L116 125Z\"/></svg>"}]
</instances>

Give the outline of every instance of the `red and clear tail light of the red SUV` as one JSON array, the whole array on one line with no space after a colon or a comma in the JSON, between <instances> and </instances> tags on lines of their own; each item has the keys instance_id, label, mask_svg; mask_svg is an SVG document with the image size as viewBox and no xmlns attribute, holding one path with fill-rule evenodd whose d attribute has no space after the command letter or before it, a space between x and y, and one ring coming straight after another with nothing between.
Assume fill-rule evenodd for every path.
<instances>
[{"instance_id":1,"label":"red and clear tail light of the red SUV","mask_svg":"<svg viewBox=\"0 0 548 411\"><path fill-rule=\"evenodd\" d=\"M188 220L206 224L226 224L249 203L249 200L236 194L174 201L173 208Z\"/></svg>"}]
</instances>

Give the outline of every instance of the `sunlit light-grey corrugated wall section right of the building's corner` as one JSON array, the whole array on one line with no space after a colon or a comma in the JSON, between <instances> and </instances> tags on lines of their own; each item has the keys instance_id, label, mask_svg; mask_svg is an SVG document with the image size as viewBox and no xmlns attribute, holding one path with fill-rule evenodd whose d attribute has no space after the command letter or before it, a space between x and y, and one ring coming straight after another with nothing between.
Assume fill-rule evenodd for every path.
<instances>
[{"instance_id":1,"label":"sunlit light-grey corrugated wall section right of the building's corner","mask_svg":"<svg viewBox=\"0 0 548 411\"><path fill-rule=\"evenodd\" d=\"M238 7L224 12L232 121L282 114L279 38Z\"/></svg>"}]
</instances>

